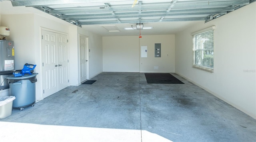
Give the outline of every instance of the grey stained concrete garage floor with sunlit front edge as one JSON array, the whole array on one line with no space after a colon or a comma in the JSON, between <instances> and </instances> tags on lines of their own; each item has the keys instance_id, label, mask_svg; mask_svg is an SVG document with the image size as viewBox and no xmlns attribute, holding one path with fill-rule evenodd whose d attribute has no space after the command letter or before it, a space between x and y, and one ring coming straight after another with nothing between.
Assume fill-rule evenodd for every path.
<instances>
[{"instance_id":1,"label":"grey stained concrete garage floor with sunlit front edge","mask_svg":"<svg viewBox=\"0 0 256 142\"><path fill-rule=\"evenodd\" d=\"M255 142L256 120L186 79L100 73L0 119L0 141Z\"/></svg>"}]
</instances>

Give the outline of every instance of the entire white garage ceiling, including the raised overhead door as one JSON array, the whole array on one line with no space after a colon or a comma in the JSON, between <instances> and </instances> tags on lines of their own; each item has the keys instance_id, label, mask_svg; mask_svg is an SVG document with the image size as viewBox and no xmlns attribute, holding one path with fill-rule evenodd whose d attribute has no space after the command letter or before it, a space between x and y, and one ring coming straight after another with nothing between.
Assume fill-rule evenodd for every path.
<instances>
[{"instance_id":1,"label":"entire white garage ceiling, including the raised overhead door","mask_svg":"<svg viewBox=\"0 0 256 142\"><path fill-rule=\"evenodd\" d=\"M230 8L236 9L251 1L255 0L138 0L134 6L135 10L130 10L134 0L14 0L13 2L0 0L0 14L35 13L62 24L76 22L74 24L101 36L138 36L140 30L124 30L124 28L136 27L136 23L143 23L144 27L153 28L141 30L142 36L164 35L176 34L193 24L209 20L210 16L218 17L216 13L207 13L207 10L220 13L220 11L229 9L225 11L228 13L232 11ZM218 8L224 8L224 10L217 10ZM191 16L191 12L186 10L192 10L198 14ZM172 13L169 13L176 14L177 11L178 16L172 16ZM157 14L157 16L148 15L147 12ZM126 18L127 14L130 16ZM66 19L68 16L80 17ZM114 30L120 32L111 32L107 30L108 28L116 28Z\"/></svg>"}]
</instances>

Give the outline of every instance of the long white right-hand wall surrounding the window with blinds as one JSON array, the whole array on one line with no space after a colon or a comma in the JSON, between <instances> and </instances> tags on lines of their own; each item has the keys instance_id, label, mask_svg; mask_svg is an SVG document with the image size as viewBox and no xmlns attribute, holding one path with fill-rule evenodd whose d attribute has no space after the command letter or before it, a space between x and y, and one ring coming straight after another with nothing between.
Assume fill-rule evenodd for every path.
<instances>
[{"instance_id":1,"label":"long white right-hand wall surrounding the window with blinds","mask_svg":"<svg viewBox=\"0 0 256 142\"><path fill-rule=\"evenodd\" d=\"M216 26L214 73L192 67L191 33ZM176 34L176 73L256 118L256 3Z\"/></svg>"}]
</instances>

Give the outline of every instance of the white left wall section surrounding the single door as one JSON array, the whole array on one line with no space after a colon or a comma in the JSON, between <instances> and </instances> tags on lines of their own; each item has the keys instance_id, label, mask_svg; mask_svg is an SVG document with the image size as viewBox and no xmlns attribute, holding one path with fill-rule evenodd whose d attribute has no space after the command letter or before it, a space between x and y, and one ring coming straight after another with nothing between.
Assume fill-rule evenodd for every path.
<instances>
[{"instance_id":1,"label":"white left wall section surrounding the single door","mask_svg":"<svg viewBox=\"0 0 256 142\"><path fill-rule=\"evenodd\" d=\"M78 26L70 26L69 33L74 35L70 37L70 85L78 86L80 82L80 57L79 57L79 35L89 38L88 63L89 79L102 72L102 36L88 32Z\"/></svg>"}]
</instances>

